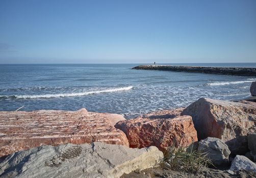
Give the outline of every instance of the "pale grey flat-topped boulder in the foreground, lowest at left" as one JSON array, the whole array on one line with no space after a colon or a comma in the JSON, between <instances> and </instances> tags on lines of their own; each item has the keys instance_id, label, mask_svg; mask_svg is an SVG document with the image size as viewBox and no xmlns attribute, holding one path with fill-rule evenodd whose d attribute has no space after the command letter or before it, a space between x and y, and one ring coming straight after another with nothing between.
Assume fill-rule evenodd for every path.
<instances>
[{"instance_id":1,"label":"pale grey flat-topped boulder in the foreground, lowest at left","mask_svg":"<svg viewBox=\"0 0 256 178\"><path fill-rule=\"evenodd\" d=\"M0 164L0 177L119 177L155 166L163 153L155 146L131 149L101 142L44 145L13 153Z\"/></svg>"}]
</instances>

